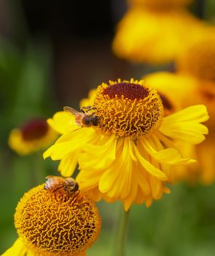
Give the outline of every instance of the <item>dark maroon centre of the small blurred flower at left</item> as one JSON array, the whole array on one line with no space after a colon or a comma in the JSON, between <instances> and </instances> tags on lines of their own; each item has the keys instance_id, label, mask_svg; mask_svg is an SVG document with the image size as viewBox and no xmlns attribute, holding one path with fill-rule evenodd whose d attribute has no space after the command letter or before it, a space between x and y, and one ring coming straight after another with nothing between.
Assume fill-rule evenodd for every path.
<instances>
[{"instance_id":1,"label":"dark maroon centre of the small blurred flower at left","mask_svg":"<svg viewBox=\"0 0 215 256\"><path fill-rule=\"evenodd\" d=\"M28 121L27 124L21 128L23 140L38 140L46 135L48 131L48 124L45 119L37 118Z\"/></svg>"}]
</instances>

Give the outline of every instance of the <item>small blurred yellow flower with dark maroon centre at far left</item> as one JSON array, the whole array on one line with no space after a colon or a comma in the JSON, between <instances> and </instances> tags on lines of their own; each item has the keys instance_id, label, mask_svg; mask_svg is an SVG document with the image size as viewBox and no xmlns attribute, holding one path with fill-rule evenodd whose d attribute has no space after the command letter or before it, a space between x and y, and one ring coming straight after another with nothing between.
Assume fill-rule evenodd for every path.
<instances>
[{"instance_id":1,"label":"small blurred yellow flower with dark maroon centre at far left","mask_svg":"<svg viewBox=\"0 0 215 256\"><path fill-rule=\"evenodd\" d=\"M58 134L43 118L29 120L23 127L12 129L9 133L9 146L17 154L26 155L50 146Z\"/></svg>"}]
</instances>

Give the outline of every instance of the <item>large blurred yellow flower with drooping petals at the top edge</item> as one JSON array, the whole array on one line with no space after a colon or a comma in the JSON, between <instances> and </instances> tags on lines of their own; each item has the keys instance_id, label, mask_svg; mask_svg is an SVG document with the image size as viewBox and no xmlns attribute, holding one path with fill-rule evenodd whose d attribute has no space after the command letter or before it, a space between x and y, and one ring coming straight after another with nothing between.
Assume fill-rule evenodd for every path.
<instances>
[{"instance_id":1,"label":"large blurred yellow flower with drooping petals at the top edge","mask_svg":"<svg viewBox=\"0 0 215 256\"><path fill-rule=\"evenodd\" d=\"M112 45L116 56L150 64L174 61L190 39L202 36L206 24L170 2L132 5L117 26Z\"/></svg>"}]
</instances>

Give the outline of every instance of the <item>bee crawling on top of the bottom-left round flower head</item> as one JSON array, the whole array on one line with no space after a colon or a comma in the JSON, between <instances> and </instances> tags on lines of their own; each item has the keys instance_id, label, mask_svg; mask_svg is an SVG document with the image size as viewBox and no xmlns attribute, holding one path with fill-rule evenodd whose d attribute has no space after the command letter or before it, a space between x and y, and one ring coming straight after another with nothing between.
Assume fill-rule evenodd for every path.
<instances>
[{"instance_id":1,"label":"bee crawling on top of the bottom-left round flower head","mask_svg":"<svg viewBox=\"0 0 215 256\"><path fill-rule=\"evenodd\" d=\"M70 196L79 189L79 184L77 184L74 178L64 178L61 176L47 176L45 178L47 178L47 181L44 184L44 189L52 192L63 188L64 191Z\"/></svg>"}]
</instances>

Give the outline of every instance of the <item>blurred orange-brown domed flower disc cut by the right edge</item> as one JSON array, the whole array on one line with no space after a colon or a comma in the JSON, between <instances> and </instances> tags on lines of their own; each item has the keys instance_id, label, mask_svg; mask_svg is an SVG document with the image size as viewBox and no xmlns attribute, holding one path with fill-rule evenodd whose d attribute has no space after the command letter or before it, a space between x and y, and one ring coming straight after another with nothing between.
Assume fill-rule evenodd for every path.
<instances>
[{"instance_id":1,"label":"blurred orange-brown domed flower disc cut by the right edge","mask_svg":"<svg viewBox=\"0 0 215 256\"><path fill-rule=\"evenodd\" d=\"M179 56L178 69L196 78L215 82L215 30L192 42L186 52Z\"/></svg>"}]
</instances>

